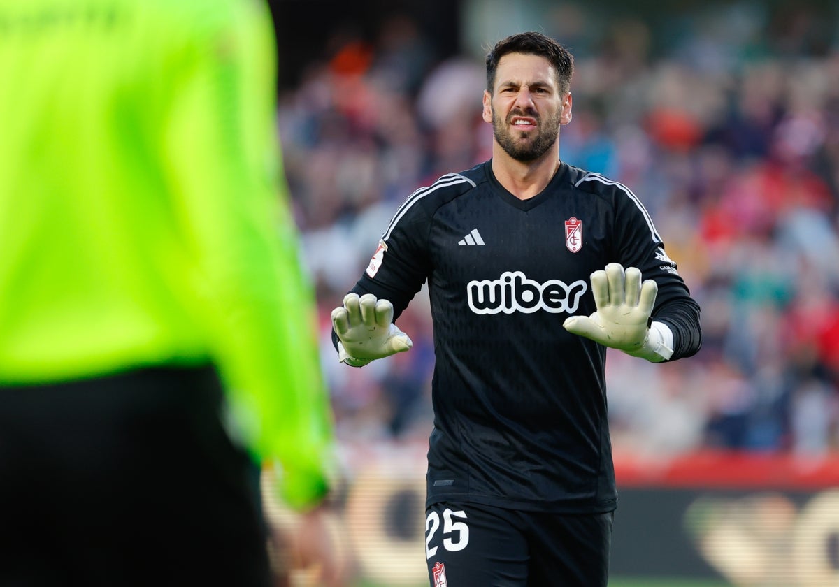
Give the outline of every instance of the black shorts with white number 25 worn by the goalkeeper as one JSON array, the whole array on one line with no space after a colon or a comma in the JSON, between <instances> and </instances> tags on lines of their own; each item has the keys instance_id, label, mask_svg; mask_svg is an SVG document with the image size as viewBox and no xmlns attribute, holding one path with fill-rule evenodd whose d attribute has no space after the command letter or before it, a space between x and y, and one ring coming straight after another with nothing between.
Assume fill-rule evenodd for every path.
<instances>
[{"instance_id":1,"label":"black shorts with white number 25 worn by the goalkeeper","mask_svg":"<svg viewBox=\"0 0 839 587\"><path fill-rule=\"evenodd\" d=\"M613 512L560 515L477 503L425 512L432 587L606 587Z\"/></svg>"}]
</instances>

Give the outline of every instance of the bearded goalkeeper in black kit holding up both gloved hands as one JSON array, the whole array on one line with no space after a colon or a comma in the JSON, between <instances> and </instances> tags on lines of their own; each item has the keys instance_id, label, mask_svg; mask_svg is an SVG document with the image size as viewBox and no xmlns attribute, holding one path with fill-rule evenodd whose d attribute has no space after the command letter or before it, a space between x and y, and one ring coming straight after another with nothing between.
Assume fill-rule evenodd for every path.
<instances>
[{"instance_id":1,"label":"bearded goalkeeper in black kit holding up both gloved hands","mask_svg":"<svg viewBox=\"0 0 839 587\"><path fill-rule=\"evenodd\" d=\"M428 280L430 584L597 587L618 502L606 349L691 356L700 309L638 197L561 161L572 56L523 33L486 63L492 158L409 196L334 342L350 366L408 351L393 320Z\"/></svg>"}]
</instances>

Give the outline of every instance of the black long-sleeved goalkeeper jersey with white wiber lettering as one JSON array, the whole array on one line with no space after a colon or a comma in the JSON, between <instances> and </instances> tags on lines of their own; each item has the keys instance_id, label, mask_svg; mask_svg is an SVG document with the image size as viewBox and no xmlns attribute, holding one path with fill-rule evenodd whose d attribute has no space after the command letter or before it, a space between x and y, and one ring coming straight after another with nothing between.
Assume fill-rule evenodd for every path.
<instances>
[{"instance_id":1,"label":"black long-sleeved goalkeeper jersey with white wiber lettering","mask_svg":"<svg viewBox=\"0 0 839 587\"><path fill-rule=\"evenodd\" d=\"M609 262L658 283L653 318L674 333L670 360L696 353L699 306L622 184L560 164L542 193L519 200L487 161L444 175L399 208L352 291L389 299L398 317L428 281L429 505L616 506L606 348L562 327L595 311L589 276Z\"/></svg>"}]
</instances>

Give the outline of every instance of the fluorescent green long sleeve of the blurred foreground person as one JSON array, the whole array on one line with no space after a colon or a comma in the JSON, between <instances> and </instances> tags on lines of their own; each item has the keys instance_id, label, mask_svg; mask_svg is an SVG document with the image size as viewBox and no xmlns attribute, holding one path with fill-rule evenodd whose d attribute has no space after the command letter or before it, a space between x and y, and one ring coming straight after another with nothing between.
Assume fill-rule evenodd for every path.
<instances>
[{"instance_id":1,"label":"fluorescent green long sleeve of the blurred foreground person","mask_svg":"<svg viewBox=\"0 0 839 587\"><path fill-rule=\"evenodd\" d=\"M328 397L314 294L300 267L274 135L273 38L267 13L238 3L185 61L190 86L169 128L173 180L201 249L212 339L236 421L255 452L279 460L284 497L326 491Z\"/></svg>"}]
</instances>

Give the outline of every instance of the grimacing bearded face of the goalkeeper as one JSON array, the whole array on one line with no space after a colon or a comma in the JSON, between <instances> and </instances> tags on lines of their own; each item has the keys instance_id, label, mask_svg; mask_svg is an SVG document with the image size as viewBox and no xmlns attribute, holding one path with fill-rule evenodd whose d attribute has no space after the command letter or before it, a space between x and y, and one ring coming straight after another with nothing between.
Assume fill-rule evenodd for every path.
<instances>
[{"instance_id":1,"label":"grimacing bearded face of the goalkeeper","mask_svg":"<svg viewBox=\"0 0 839 587\"><path fill-rule=\"evenodd\" d=\"M483 94L483 119L517 161L542 157L571 122L571 92L560 94L556 71L539 55L509 53L498 61L492 95Z\"/></svg>"}]
</instances>

